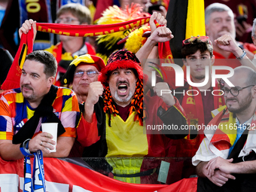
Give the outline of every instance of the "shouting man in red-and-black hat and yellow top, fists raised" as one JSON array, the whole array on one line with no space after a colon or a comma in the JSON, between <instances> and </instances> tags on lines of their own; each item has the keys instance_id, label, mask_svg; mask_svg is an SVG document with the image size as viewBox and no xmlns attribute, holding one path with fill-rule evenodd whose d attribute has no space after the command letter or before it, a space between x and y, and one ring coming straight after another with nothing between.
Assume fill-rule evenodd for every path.
<instances>
[{"instance_id":1,"label":"shouting man in red-and-black hat and yellow top, fists raised","mask_svg":"<svg viewBox=\"0 0 256 192\"><path fill-rule=\"evenodd\" d=\"M166 23L160 15L154 14L151 17L153 24L154 19L158 23ZM157 28L138 53L139 58L147 57L157 42L168 41L172 37L166 26ZM150 111L146 115L146 123L163 124L161 119L169 118L181 125L186 123L186 119L178 100L169 99L172 97L170 94L162 98L155 96L151 100L147 99L147 96L143 95L141 63L137 56L128 50L117 50L111 54L107 66L99 74L99 82L104 87L104 92L102 94L100 86L90 87L88 97L92 91L94 100L88 102L87 97L84 102L84 126L78 126L77 129L78 142L84 146L87 146L87 130L96 130L94 135L90 135L90 139L94 136L97 142L84 149L84 157L140 157L106 160L113 168L114 178L120 181L157 183L156 170L159 163L148 164L142 157L169 157L166 151L170 147L170 141L184 138L187 133L177 134L178 132L173 131L166 135L148 134L143 128L143 102L146 108L148 106L145 111ZM175 100L175 103L169 103L171 100ZM157 117L158 109L161 112ZM123 166L122 163L129 166Z\"/></svg>"}]
</instances>

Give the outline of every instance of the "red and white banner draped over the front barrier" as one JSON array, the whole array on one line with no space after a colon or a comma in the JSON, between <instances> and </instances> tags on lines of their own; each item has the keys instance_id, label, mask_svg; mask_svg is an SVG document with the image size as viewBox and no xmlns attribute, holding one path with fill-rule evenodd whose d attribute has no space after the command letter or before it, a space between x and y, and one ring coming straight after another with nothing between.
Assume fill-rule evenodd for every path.
<instances>
[{"instance_id":1,"label":"red and white banner draped over the front barrier","mask_svg":"<svg viewBox=\"0 0 256 192\"><path fill-rule=\"evenodd\" d=\"M44 157L47 192L196 192L197 178L184 178L174 184L129 184L95 172L80 158ZM5 161L0 158L0 191L23 191L23 159ZM40 182L40 179L37 180Z\"/></svg>"}]
</instances>

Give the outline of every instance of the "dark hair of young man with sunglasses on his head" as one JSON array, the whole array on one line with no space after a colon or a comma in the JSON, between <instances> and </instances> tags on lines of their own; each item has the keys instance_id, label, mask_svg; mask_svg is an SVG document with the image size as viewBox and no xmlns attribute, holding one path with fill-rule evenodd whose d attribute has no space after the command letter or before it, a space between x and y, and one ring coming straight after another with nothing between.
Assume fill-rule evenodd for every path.
<instances>
[{"instance_id":1,"label":"dark hair of young man with sunglasses on his head","mask_svg":"<svg viewBox=\"0 0 256 192\"><path fill-rule=\"evenodd\" d=\"M208 50L211 58L213 56L213 48L210 44L207 44L206 42L194 42L193 44L184 44L184 46L181 48L182 57L186 59L186 56L196 53L197 50L200 50L201 53Z\"/></svg>"}]
</instances>

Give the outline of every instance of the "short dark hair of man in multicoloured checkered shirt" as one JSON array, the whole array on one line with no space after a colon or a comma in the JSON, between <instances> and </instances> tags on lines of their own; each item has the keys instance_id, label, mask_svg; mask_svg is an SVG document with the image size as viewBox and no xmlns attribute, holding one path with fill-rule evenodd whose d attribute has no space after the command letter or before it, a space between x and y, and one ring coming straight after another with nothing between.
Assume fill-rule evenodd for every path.
<instances>
[{"instance_id":1,"label":"short dark hair of man in multicoloured checkered shirt","mask_svg":"<svg viewBox=\"0 0 256 192\"><path fill-rule=\"evenodd\" d=\"M41 62L44 64L44 74L49 77L55 77L57 71L57 62L52 53L47 50L35 50L26 56L26 60Z\"/></svg>"}]
</instances>

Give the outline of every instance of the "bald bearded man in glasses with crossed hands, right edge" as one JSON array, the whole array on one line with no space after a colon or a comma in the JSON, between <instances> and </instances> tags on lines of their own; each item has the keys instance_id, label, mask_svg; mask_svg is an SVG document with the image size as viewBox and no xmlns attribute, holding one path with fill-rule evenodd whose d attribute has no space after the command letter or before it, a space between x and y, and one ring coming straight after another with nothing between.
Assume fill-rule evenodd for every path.
<instances>
[{"instance_id":1,"label":"bald bearded man in glasses with crossed hands, right edge","mask_svg":"<svg viewBox=\"0 0 256 192\"><path fill-rule=\"evenodd\" d=\"M206 137L192 161L197 166L198 191L254 191L256 189L256 72L237 67L224 84L226 108L205 130Z\"/></svg>"}]
</instances>

